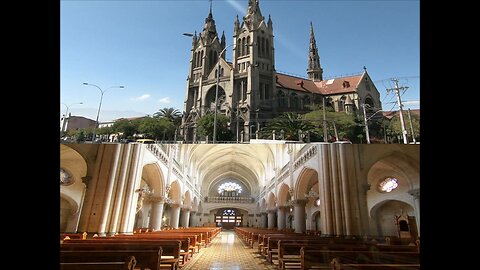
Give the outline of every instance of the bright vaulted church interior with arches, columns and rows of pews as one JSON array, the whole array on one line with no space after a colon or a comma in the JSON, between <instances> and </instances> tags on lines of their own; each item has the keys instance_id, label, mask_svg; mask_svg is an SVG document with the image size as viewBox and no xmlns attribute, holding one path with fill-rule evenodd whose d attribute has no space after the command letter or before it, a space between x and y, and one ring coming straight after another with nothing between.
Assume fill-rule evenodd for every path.
<instances>
[{"instance_id":1,"label":"bright vaulted church interior with arches, columns and rows of pews","mask_svg":"<svg viewBox=\"0 0 480 270\"><path fill-rule=\"evenodd\" d=\"M158 269L419 269L419 171L418 145L61 144L61 258L159 241Z\"/></svg>"}]
</instances>

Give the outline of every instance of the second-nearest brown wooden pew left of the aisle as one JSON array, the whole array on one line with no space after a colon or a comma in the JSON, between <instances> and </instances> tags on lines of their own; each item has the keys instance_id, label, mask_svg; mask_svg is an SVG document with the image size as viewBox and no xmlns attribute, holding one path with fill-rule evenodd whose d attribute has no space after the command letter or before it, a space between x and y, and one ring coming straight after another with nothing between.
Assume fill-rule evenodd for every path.
<instances>
[{"instance_id":1,"label":"second-nearest brown wooden pew left of the aisle","mask_svg":"<svg viewBox=\"0 0 480 270\"><path fill-rule=\"evenodd\" d=\"M157 240L157 239L115 239L115 238L93 238L86 240L66 240L60 245L61 250L140 250L162 248L160 264L155 269L178 269L180 259L181 241L179 240ZM140 257L136 256L137 266L143 265ZM153 258L152 261L153 263ZM149 264L152 266L152 264ZM148 268L150 268L150 266ZM152 266L153 267L153 266ZM152 268L154 269L154 268Z\"/></svg>"}]
</instances>

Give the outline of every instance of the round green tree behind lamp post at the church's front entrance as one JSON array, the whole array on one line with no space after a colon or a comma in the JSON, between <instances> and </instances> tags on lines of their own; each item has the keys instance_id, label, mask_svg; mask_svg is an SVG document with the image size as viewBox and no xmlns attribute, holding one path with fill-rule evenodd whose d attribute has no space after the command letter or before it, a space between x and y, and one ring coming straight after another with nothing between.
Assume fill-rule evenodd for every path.
<instances>
[{"instance_id":1,"label":"round green tree behind lamp post at the church's front entrance","mask_svg":"<svg viewBox=\"0 0 480 270\"><path fill-rule=\"evenodd\" d=\"M198 134L213 139L214 115L211 113L200 117L197 122ZM228 129L228 118L223 114L217 114L217 141L232 141L233 133Z\"/></svg>"}]
</instances>

